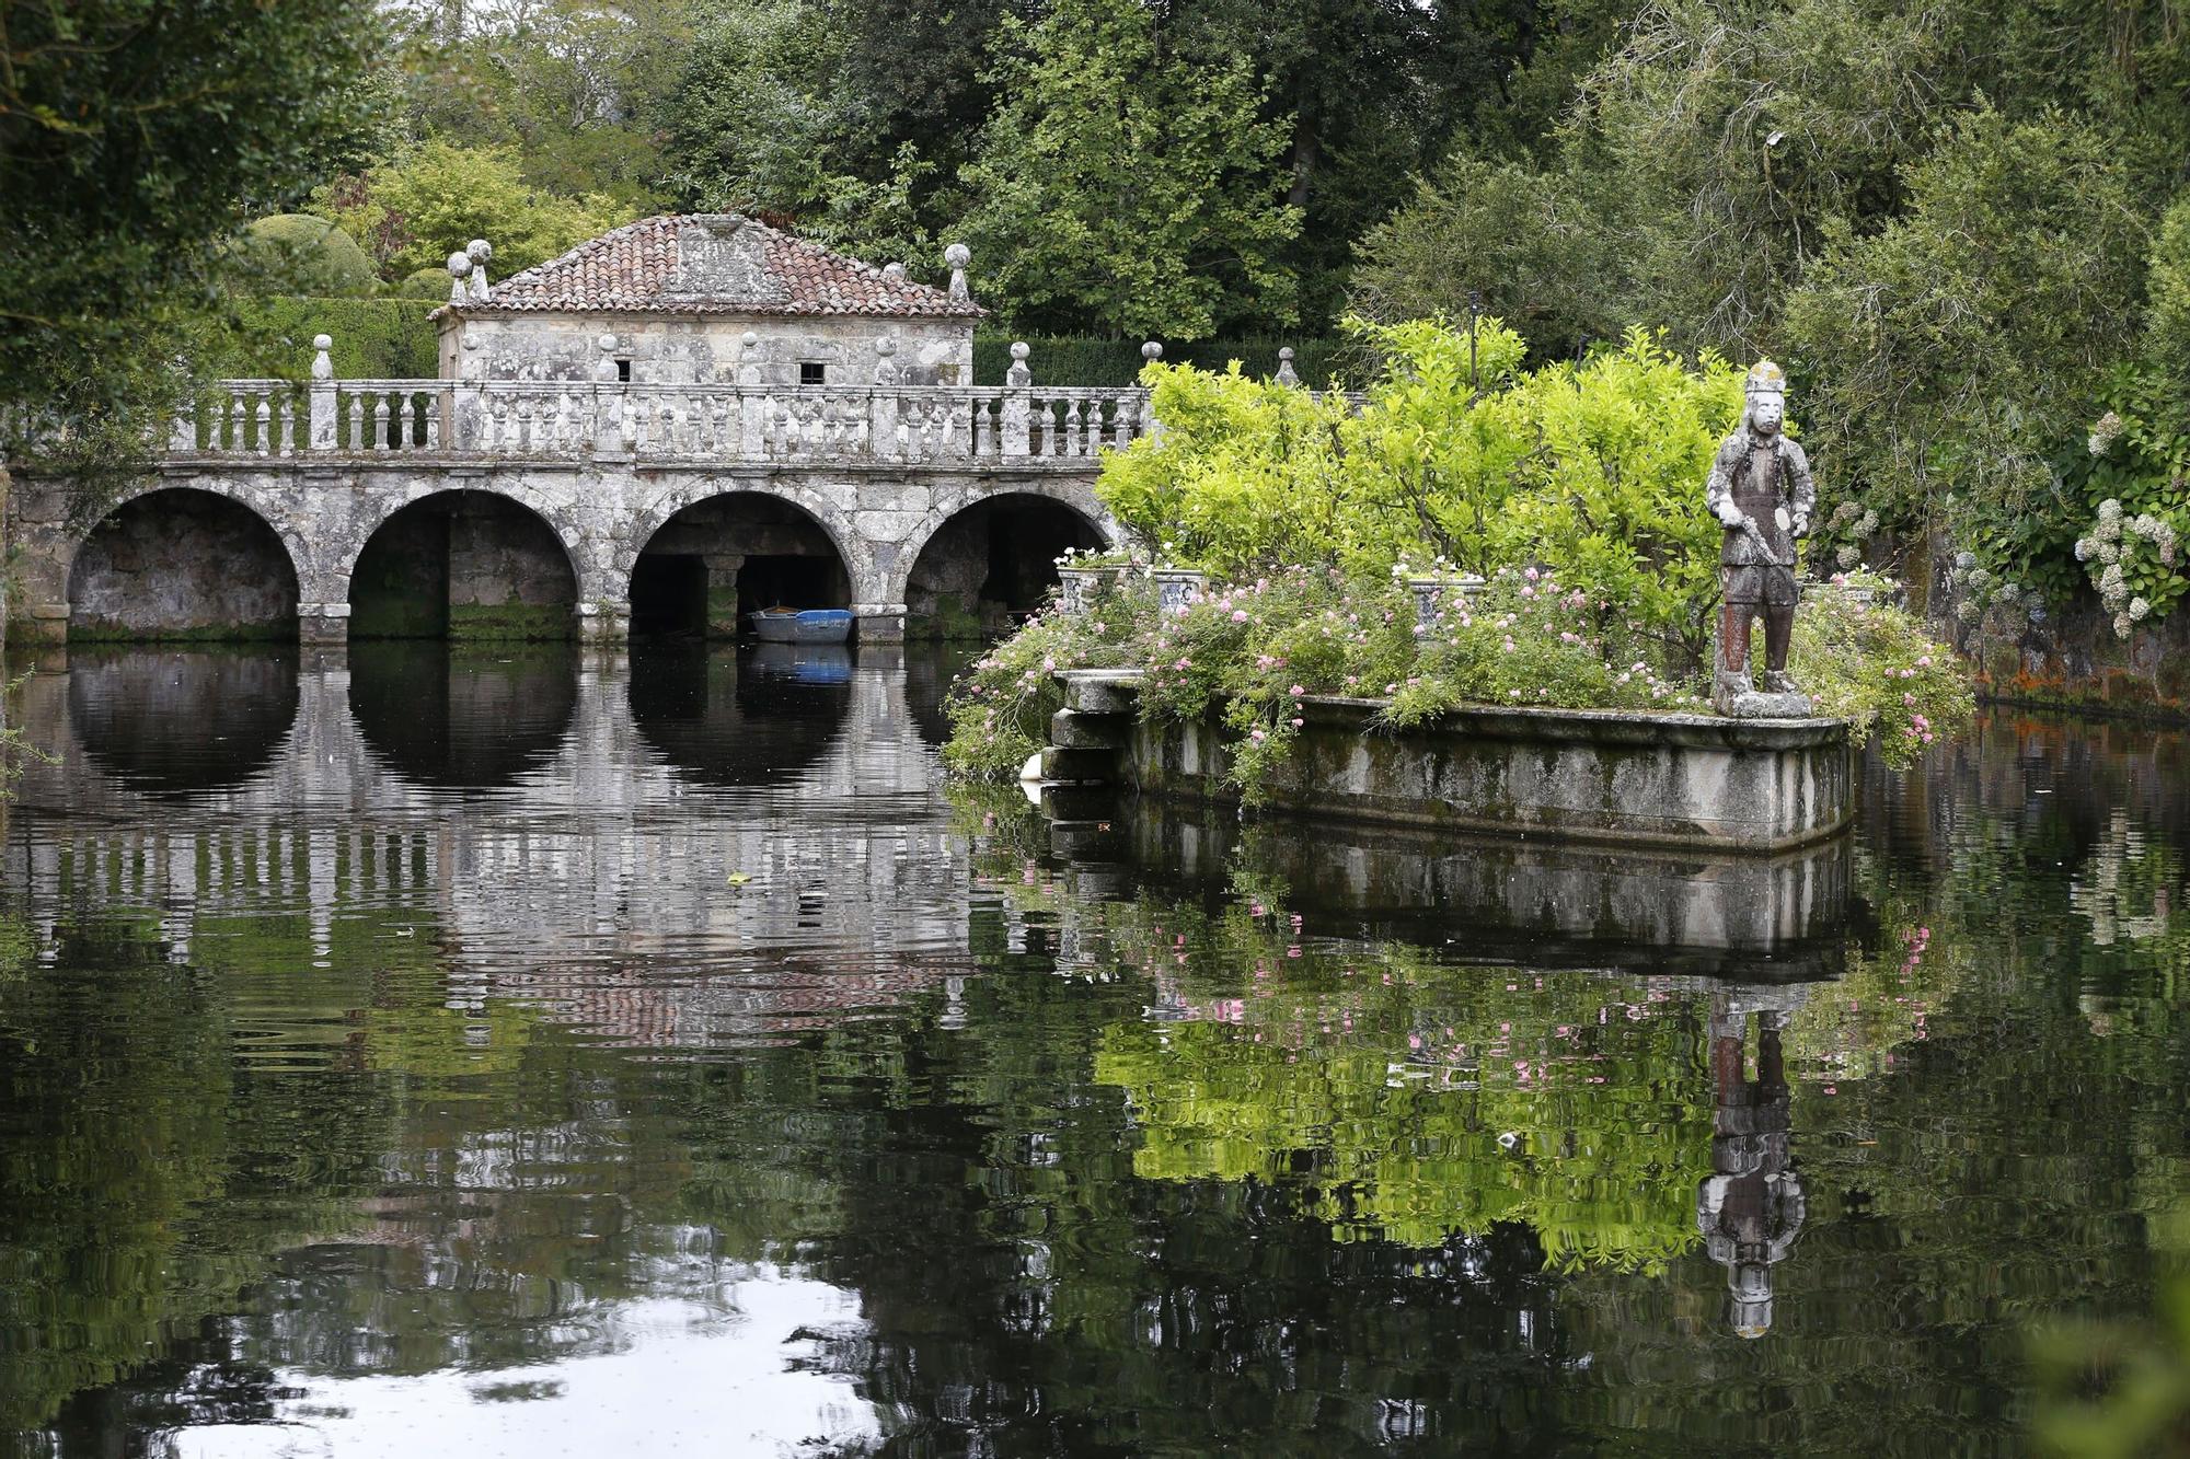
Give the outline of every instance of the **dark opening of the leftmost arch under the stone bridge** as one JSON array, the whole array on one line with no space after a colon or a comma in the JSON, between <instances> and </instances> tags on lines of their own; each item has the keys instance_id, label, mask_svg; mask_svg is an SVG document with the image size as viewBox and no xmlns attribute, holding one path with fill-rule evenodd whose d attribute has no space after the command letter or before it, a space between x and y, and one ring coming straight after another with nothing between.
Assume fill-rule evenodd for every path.
<instances>
[{"instance_id":1,"label":"dark opening of the leftmost arch under the stone bridge","mask_svg":"<svg viewBox=\"0 0 2190 1459\"><path fill-rule=\"evenodd\" d=\"M293 640L296 565L252 508L188 486L149 491L77 548L68 637Z\"/></svg>"}]
</instances>

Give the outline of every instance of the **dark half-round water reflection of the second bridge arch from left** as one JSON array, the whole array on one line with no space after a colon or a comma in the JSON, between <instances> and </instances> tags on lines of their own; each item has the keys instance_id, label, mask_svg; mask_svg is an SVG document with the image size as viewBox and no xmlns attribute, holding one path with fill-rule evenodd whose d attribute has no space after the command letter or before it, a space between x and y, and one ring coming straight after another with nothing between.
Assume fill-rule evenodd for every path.
<instances>
[{"instance_id":1,"label":"dark half-round water reflection of the second bridge arch from left","mask_svg":"<svg viewBox=\"0 0 2190 1459\"><path fill-rule=\"evenodd\" d=\"M569 734L569 644L374 640L350 646L348 666L359 734L416 784L502 789Z\"/></svg>"}]
</instances>

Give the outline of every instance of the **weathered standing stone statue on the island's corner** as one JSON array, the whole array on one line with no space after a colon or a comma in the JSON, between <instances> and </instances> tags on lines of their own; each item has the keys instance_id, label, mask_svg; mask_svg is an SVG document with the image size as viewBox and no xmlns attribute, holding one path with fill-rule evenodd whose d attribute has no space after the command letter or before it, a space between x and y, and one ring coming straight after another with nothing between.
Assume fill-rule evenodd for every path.
<instances>
[{"instance_id":1,"label":"weathered standing stone statue on the island's corner","mask_svg":"<svg viewBox=\"0 0 2190 1459\"><path fill-rule=\"evenodd\" d=\"M1719 714L1780 719L1809 714L1809 699L1787 677L1787 644L1794 637L1794 543L1809 535L1809 513L1818 484L1809 480L1809 458L1787 440L1787 377L1770 359L1759 359L1743 386L1748 407L1741 425L1719 443L1710 462L1704 502L1726 528L1719 548L1719 648L1710 675L1710 701ZM1765 618L1765 686L1750 683L1750 620Z\"/></svg>"}]
</instances>

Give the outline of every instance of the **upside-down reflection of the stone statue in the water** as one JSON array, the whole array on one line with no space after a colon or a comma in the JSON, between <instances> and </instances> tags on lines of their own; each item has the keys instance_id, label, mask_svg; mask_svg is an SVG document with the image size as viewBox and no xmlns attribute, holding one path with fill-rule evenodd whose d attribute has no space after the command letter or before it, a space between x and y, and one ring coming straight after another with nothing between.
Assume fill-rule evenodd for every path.
<instances>
[{"instance_id":1,"label":"upside-down reflection of the stone statue in the water","mask_svg":"<svg viewBox=\"0 0 2190 1459\"><path fill-rule=\"evenodd\" d=\"M1710 1078L1717 1117L1710 1168L1695 1192L1695 1229L1710 1260L1726 1268L1734 1332L1772 1330L1772 1264L1787 1257L1802 1229L1802 1176L1787 1161L1787 1073L1780 1067L1778 1012L1759 1012L1756 1082L1741 1078L1748 1012L1719 995L1710 1010Z\"/></svg>"}]
</instances>

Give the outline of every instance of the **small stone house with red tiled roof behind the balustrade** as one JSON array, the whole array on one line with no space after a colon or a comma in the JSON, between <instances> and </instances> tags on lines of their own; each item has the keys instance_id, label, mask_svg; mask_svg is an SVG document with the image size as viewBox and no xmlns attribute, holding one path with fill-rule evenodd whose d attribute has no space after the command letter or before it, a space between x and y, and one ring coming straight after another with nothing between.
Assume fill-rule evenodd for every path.
<instances>
[{"instance_id":1,"label":"small stone house with red tiled roof behind the balustrade","mask_svg":"<svg viewBox=\"0 0 2190 1459\"><path fill-rule=\"evenodd\" d=\"M589 381L607 355L659 386L972 383L964 248L948 289L734 212L624 223L493 285L488 259L449 261L442 379Z\"/></svg>"}]
</instances>

